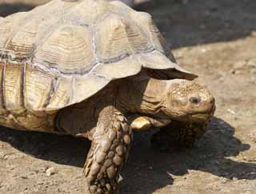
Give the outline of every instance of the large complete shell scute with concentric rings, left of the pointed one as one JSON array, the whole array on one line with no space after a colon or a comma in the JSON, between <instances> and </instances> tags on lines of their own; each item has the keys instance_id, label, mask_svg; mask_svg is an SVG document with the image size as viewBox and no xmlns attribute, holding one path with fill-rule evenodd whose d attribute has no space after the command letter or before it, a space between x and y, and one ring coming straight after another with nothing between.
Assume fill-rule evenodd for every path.
<instances>
[{"instance_id":1,"label":"large complete shell scute with concentric rings, left of the pointed one","mask_svg":"<svg viewBox=\"0 0 256 194\"><path fill-rule=\"evenodd\" d=\"M83 73L95 63L90 33L80 26L60 26L34 55L62 73Z\"/></svg>"}]
</instances>

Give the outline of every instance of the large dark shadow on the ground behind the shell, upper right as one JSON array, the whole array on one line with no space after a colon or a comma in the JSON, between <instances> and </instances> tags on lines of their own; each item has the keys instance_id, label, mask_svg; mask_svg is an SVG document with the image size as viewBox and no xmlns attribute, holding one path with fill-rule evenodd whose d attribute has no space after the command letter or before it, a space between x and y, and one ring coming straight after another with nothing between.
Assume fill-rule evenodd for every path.
<instances>
[{"instance_id":1,"label":"large dark shadow on the ground behind the shell, upper right","mask_svg":"<svg viewBox=\"0 0 256 194\"><path fill-rule=\"evenodd\" d=\"M255 1L244 0L153 0L138 10L153 15L175 49L247 37L256 30L255 7Z\"/></svg>"}]
</instances>

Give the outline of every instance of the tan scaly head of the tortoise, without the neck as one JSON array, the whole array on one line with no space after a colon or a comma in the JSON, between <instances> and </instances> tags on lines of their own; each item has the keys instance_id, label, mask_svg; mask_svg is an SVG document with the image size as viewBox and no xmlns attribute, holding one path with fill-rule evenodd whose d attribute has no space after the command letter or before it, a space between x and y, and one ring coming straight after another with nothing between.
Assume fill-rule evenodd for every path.
<instances>
[{"instance_id":1,"label":"tan scaly head of the tortoise, without the neck","mask_svg":"<svg viewBox=\"0 0 256 194\"><path fill-rule=\"evenodd\" d=\"M177 121L206 122L213 117L214 97L194 81L167 81L162 112Z\"/></svg>"}]
</instances>

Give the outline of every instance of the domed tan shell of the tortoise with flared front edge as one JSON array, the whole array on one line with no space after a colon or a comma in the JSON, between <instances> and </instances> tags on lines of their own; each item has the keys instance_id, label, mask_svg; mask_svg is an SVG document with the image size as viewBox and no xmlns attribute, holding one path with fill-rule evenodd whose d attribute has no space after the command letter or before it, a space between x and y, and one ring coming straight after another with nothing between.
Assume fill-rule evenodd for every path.
<instances>
[{"instance_id":1,"label":"domed tan shell of the tortoise with flared front edge","mask_svg":"<svg viewBox=\"0 0 256 194\"><path fill-rule=\"evenodd\" d=\"M150 14L122 2L54 0L0 18L0 106L62 109L142 68L194 79L166 48Z\"/></svg>"}]
</instances>

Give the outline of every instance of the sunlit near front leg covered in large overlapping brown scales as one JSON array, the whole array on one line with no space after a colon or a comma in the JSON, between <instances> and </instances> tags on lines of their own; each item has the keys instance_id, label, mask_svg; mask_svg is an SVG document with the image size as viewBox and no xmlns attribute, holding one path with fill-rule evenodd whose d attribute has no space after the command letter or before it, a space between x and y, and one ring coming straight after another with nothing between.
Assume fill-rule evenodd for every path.
<instances>
[{"instance_id":1,"label":"sunlit near front leg covered in large overlapping brown scales","mask_svg":"<svg viewBox=\"0 0 256 194\"><path fill-rule=\"evenodd\" d=\"M131 141L132 131L126 117L114 106L102 109L85 164L90 193L117 192L118 179Z\"/></svg>"}]
</instances>

